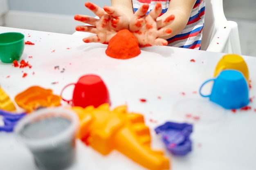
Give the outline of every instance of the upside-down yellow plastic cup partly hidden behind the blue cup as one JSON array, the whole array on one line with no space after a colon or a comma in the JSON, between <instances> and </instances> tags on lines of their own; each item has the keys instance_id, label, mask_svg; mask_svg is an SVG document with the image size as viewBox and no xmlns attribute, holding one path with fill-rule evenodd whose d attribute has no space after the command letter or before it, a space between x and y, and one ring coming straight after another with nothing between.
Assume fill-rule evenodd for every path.
<instances>
[{"instance_id":1,"label":"upside-down yellow plastic cup partly hidden behind the blue cup","mask_svg":"<svg viewBox=\"0 0 256 170\"><path fill-rule=\"evenodd\" d=\"M236 54L224 55L218 62L213 76L216 77L217 75L219 75L221 71L227 70L227 69L232 69L232 70L237 70L242 72L249 84L249 70L243 57Z\"/></svg>"}]
</instances>

